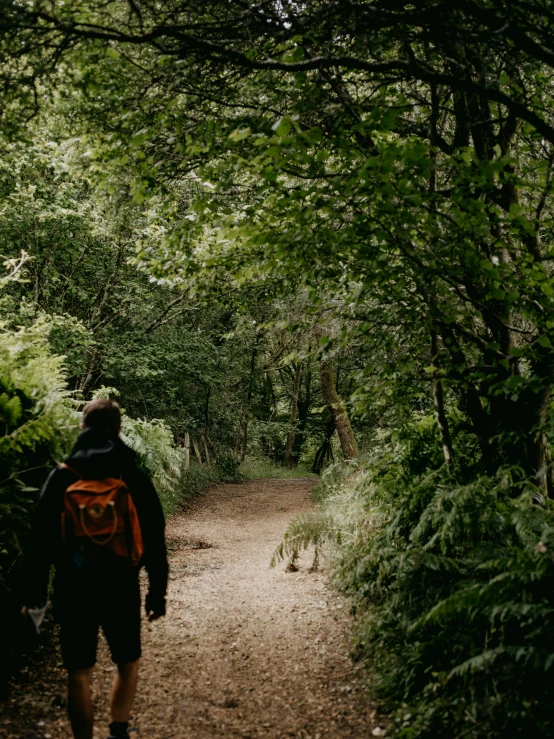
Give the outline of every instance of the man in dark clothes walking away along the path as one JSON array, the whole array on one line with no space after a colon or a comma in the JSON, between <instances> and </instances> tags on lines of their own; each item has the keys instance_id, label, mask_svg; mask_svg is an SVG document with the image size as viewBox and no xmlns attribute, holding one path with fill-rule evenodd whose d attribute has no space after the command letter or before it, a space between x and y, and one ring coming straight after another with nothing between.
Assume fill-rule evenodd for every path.
<instances>
[{"instance_id":1,"label":"man in dark clothes walking away along the path","mask_svg":"<svg viewBox=\"0 0 554 739\"><path fill-rule=\"evenodd\" d=\"M27 552L23 615L28 617L29 608L46 603L50 567L54 564L54 613L60 624L62 657L68 671L68 713L73 735L75 739L92 739L91 681L101 627L117 665L110 695L110 737L125 739L141 656L139 570L144 565L148 572L145 609L153 621L165 615L165 523L150 478L137 466L135 453L119 438L118 404L106 399L92 401L84 409L82 428L70 456L52 471L40 496ZM138 516L142 537L139 563L101 546L107 537L102 541L91 537L87 548L62 526L67 518L67 489L72 485L78 488L79 481L105 479L115 480L130 496L128 506Z\"/></svg>"}]
</instances>

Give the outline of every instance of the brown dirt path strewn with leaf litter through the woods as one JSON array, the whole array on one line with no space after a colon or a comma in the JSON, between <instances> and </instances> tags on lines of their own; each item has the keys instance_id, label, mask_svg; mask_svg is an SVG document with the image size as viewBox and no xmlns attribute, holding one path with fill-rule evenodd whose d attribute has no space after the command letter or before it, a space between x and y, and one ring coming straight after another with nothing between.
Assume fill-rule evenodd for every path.
<instances>
[{"instance_id":1,"label":"brown dirt path strewn with leaf litter through the woods","mask_svg":"<svg viewBox=\"0 0 554 739\"><path fill-rule=\"evenodd\" d=\"M311 480L212 488L170 522L166 619L144 630L134 725L145 739L379 735L348 657L345 603L325 573L269 568L290 518L310 505ZM113 667L97 669L98 727ZM63 673L50 669L0 707L0 736L69 737ZM9 708L9 713L6 711Z\"/></svg>"}]
</instances>

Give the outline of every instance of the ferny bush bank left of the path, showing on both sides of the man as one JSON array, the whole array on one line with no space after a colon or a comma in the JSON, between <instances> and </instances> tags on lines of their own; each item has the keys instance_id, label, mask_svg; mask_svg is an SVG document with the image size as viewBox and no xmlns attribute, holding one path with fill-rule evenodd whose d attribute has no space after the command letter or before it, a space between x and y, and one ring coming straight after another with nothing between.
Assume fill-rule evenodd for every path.
<instances>
[{"instance_id":1,"label":"ferny bush bank left of the path, showing on both sides of the man","mask_svg":"<svg viewBox=\"0 0 554 739\"><path fill-rule=\"evenodd\" d=\"M64 358L50 347L47 317L0 333L0 696L37 639L19 615L22 552L40 489L79 433ZM182 454L162 421L124 418L123 438L154 480L166 513L186 496Z\"/></svg>"}]
</instances>

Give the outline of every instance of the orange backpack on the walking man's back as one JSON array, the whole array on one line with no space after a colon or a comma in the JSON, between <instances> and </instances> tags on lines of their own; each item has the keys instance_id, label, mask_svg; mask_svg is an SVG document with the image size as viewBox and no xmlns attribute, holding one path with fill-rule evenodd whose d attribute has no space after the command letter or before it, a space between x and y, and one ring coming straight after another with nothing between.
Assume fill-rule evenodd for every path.
<instances>
[{"instance_id":1,"label":"orange backpack on the walking man's back","mask_svg":"<svg viewBox=\"0 0 554 739\"><path fill-rule=\"evenodd\" d=\"M78 475L67 464L60 467ZM76 540L83 551L106 547L135 567L144 553L137 509L120 478L84 480L79 476L65 491L62 536L65 541Z\"/></svg>"}]
</instances>

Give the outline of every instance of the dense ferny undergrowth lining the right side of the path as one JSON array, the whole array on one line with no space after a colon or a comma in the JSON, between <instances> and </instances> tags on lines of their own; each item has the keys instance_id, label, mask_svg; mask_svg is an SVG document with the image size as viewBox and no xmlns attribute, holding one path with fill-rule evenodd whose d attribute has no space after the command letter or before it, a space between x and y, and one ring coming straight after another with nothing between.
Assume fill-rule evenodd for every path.
<instances>
[{"instance_id":1,"label":"dense ferny undergrowth lining the right side of the path","mask_svg":"<svg viewBox=\"0 0 554 739\"><path fill-rule=\"evenodd\" d=\"M275 555L328 545L401 739L554 736L554 507L518 469L473 472L416 474L389 436L324 473Z\"/></svg>"}]
</instances>

